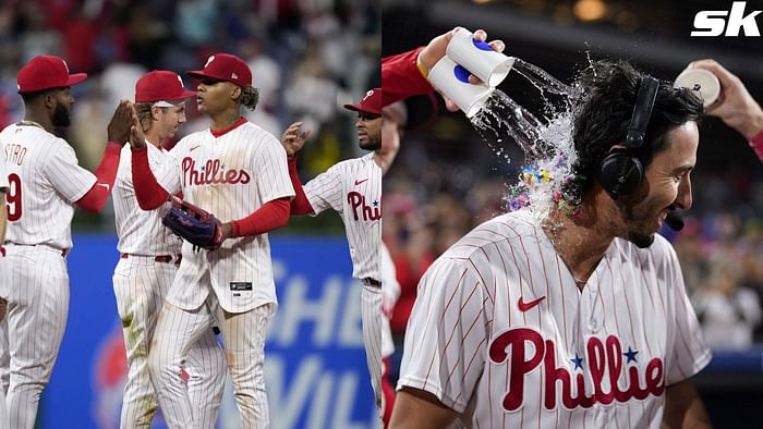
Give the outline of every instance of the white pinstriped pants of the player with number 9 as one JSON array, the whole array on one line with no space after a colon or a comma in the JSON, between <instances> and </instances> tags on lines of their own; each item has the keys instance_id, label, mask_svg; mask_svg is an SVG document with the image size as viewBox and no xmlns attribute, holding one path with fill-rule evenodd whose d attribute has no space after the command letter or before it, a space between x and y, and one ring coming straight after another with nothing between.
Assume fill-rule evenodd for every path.
<instances>
[{"instance_id":1,"label":"white pinstriped pants of the player with number 9","mask_svg":"<svg viewBox=\"0 0 763 429\"><path fill-rule=\"evenodd\" d=\"M34 428L37 407L69 316L69 273L60 250L7 246L0 285L8 315L0 322L0 380L9 428Z\"/></svg>"}]
</instances>

